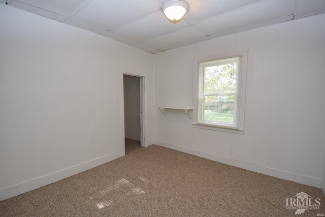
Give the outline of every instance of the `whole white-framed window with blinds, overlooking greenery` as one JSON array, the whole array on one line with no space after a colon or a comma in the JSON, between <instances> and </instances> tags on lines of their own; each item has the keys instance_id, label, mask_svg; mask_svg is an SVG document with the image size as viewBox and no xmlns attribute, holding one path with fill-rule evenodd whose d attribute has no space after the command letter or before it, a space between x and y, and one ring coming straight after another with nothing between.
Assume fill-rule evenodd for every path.
<instances>
[{"instance_id":1,"label":"whole white-framed window with blinds, overlooking greenery","mask_svg":"<svg viewBox=\"0 0 325 217\"><path fill-rule=\"evenodd\" d=\"M242 133L246 64L247 49L195 61L193 127Z\"/></svg>"}]
</instances>

